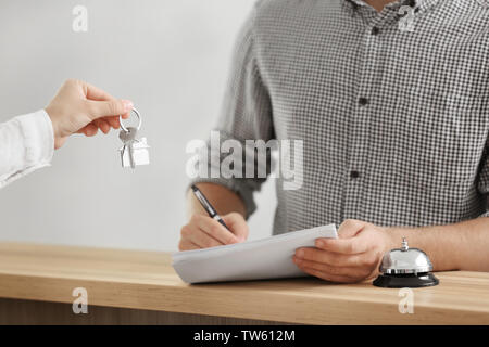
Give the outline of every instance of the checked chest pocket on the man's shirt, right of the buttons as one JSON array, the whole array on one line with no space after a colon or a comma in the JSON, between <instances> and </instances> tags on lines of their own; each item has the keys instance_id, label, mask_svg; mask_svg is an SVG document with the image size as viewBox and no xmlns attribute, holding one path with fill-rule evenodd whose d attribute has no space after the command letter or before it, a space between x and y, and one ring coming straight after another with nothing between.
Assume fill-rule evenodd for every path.
<instances>
[{"instance_id":1,"label":"checked chest pocket on the man's shirt, right of the buttons","mask_svg":"<svg viewBox=\"0 0 489 347\"><path fill-rule=\"evenodd\" d=\"M400 95L392 115L389 170L423 190L466 191L487 138L482 98L419 88Z\"/></svg>"}]
</instances>

